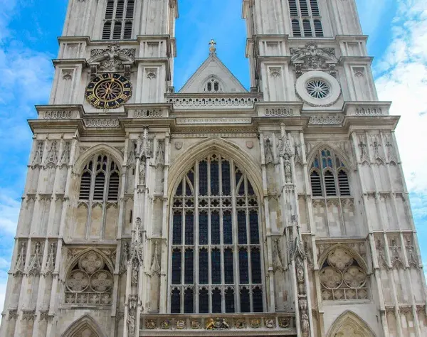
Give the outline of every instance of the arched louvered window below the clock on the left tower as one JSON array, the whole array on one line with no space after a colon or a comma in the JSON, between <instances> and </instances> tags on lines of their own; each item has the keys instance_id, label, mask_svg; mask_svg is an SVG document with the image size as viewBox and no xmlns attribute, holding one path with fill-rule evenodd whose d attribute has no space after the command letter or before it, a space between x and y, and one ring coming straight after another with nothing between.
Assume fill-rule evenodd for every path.
<instances>
[{"instance_id":1,"label":"arched louvered window below the clock on the left tower","mask_svg":"<svg viewBox=\"0 0 427 337\"><path fill-rule=\"evenodd\" d=\"M80 178L79 200L88 203L117 203L120 172L117 164L107 154L91 157Z\"/></svg>"}]
</instances>

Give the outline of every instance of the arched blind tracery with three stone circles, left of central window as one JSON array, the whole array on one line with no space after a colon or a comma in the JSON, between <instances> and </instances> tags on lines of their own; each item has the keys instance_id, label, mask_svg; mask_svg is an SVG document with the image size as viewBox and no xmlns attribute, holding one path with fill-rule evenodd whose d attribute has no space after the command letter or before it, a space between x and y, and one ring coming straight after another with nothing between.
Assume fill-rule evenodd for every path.
<instances>
[{"instance_id":1,"label":"arched blind tracery with three stone circles, left of central window","mask_svg":"<svg viewBox=\"0 0 427 337\"><path fill-rule=\"evenodd\" d=\"M97 252L87 252L70 268L65 279L65 303L109 305L112 303L112 271Z\"/></svg>"}]
</instances>

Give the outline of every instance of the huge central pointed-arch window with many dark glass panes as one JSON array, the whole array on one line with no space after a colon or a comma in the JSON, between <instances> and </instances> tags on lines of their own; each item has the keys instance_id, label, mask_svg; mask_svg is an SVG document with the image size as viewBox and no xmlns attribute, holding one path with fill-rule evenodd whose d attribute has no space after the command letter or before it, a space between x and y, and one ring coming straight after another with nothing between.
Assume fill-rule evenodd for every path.
<instances>
[{"instance_id":1,"label":"huge central pointed-arch window with many dark glass panes","mask_svg":"<svg viewBox=\"0 0 427 337\"><path fill-rule=\"evenodd\" d=\"M212 154L181 178L171 213L172 313L262 312L258 197L246 173Z\"/></svg>"}]
</instances>

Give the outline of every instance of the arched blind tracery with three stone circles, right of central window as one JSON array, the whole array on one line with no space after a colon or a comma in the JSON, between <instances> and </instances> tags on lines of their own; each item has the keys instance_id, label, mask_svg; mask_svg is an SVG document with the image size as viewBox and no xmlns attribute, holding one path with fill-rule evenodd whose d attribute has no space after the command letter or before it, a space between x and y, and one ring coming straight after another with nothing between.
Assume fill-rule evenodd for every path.
<instances>
[{"instance_id":1,"label":"arched blind tracery with three stone circles, right of central window","mask_svg":"<svg viewBox=\"0 0 427 337\"><path fill-rule=\"evenodd\" d=\"M367 274L347 250L337 247L325 257L320 269L322 299L367 299Z\"/></svg>"}]
</instances>

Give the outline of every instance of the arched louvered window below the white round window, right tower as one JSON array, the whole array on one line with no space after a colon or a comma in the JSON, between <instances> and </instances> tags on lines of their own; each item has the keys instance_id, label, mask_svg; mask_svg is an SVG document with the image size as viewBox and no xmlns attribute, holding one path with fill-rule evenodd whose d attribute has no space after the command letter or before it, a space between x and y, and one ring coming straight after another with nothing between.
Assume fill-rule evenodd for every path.
<instances>
[{"instance_id":1,"label":"arched louvered window below the white round window, right tower","mask_svg":"<svg viewBox=\"0 0 427 337\"><path fill-rule=\"evenodd\" d=\"M313 159L310 183L313 197L351 195L347 168L330 149L321 149Z\"/></svg>"}]
</instances>

